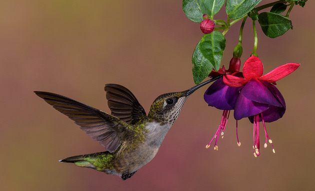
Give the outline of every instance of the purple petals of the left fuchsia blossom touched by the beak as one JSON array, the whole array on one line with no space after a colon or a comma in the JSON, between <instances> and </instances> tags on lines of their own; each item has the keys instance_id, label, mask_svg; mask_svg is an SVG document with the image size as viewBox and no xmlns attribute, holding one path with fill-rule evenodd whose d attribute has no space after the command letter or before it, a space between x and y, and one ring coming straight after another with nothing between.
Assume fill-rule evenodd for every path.
<instances>
[{"instance_id":1,"label":"purple petals of the left fuchsia blossom touched by the beak","mask_svg":"<svg viewBox=\"0 0 315 191\"><path fill-rule=\"evenodd\" d=\"M229 87L223 82L223 78L214 81L204 92L203 98L210 106L222 110L234 109L240 87Z\"/></svg>"}]
</instances>

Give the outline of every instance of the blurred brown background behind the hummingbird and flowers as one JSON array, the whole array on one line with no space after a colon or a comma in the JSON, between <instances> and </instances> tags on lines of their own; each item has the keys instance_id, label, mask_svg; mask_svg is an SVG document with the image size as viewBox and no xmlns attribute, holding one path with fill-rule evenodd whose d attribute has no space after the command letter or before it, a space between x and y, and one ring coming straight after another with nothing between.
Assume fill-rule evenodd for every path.
<instances>
[{"instance_id":1,"label":"blurred brown background behind the hummingbird and flowers","mask_svg":"<svg viewBox=\"0 0 315 191\"><path fill-rule=\"evenodd\" d=\"M270 2L269 0L264 0ZM263 2L264 3L264 2ZM293 30L270 39L258 30L264 73L301 66L277 82L287 110L267 130L273 140L252 154L252 124L239 121L236 144L230 117L218 151L205 148L221 111L203 101L203 87L186 101L151 162L130 179L58 162L103 151L98 142L32 91L60 93L109 112L105 83L128 87L148 111L159 94L194 85L191 55L202 33L182 12L181 0L0 1L1 190L313 190L315 185L313 63L315 4L294 6ZM224 12L214 18L223 18ZM231 27L223 62L237 44ZM242 62L252 51L251 22Z\"/></svg>"}]
</instances>

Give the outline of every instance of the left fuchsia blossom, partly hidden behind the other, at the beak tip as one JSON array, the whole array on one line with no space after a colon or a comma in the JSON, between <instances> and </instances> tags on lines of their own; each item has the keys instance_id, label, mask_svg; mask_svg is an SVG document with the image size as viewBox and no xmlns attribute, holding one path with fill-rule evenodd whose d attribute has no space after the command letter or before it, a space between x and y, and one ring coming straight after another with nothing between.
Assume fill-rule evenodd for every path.
<instances>
[{"instance_id":1,"label":"left fuchsia blossom, partly hidden behind the other, at the beak tip","mask_svg":"<svg viewBox=\"0 0 315 191\"><path fill-rule=\"evenodd\" d=\"M218 71L212 70L211 73L209 74L209 77L216 77L219 75L234 75L234 76L239 76L242 77L242 73L239 72L240 68L240 59L237 56L232 57L232 59L229 62L229 68L228 70L225 70L224 65L222 68L220 68ZM217 141L219 135L223 138L224 134L224 129L226 127L226 123L228 120L229 112L230 110L234 109L236 99L239 95L239 91L241 90L242 86L239 87L230 87L226 85L223 82L223 78L219 78L216 81L214 81L208 89L204 92L204 100L209 104L209 106L214 106L217 109L223 110L222 113L222 118L221 122L210 140L210 142L205 146L208 148L210 146L210 143L212 140L215 139L214 143L214 150L217 150ZM222 132L221 132L222 130ZM238 140L238 135L237 135L237 120L236 120L236 137L237 137L237 144L240 146L240 142Z\"/></svg>"}]
</instances>

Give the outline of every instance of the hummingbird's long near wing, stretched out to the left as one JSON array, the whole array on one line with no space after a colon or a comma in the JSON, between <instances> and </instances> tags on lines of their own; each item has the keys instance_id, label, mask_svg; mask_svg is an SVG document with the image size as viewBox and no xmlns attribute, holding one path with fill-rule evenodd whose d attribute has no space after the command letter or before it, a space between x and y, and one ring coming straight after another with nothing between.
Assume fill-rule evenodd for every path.
<instances>
[{"instance_id":1,"label":"hummingbird's long near wing, stretched out to the left","mask_svg":"<svg viewBox=\"0 0 315 191\"><path fill-rule=\"evenodd\" d=\"M106 112L56 93L34 92L53 108L74 120L86 134L109 152L115 151L130 134L127 128L129 124Z\"/></svg>"}]
</instances>

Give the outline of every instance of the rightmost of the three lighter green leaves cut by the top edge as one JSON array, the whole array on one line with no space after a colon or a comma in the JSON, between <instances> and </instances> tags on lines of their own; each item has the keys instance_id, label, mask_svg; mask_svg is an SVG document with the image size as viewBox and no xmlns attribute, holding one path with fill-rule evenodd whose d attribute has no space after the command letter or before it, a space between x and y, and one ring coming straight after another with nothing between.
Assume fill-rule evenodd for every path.
<instances>
[{"instance_id":1,"label":"rightmost of the three lighter green leaves cut by the top edge","mask_svg":"<svg viewBox=\"0 0 315 191\"><path fill-rule=\"evenodd\" d=\"M226 0L226 14L231 19L241 18L253 9L261 0Z\"/></svg>"}]
</instances>

